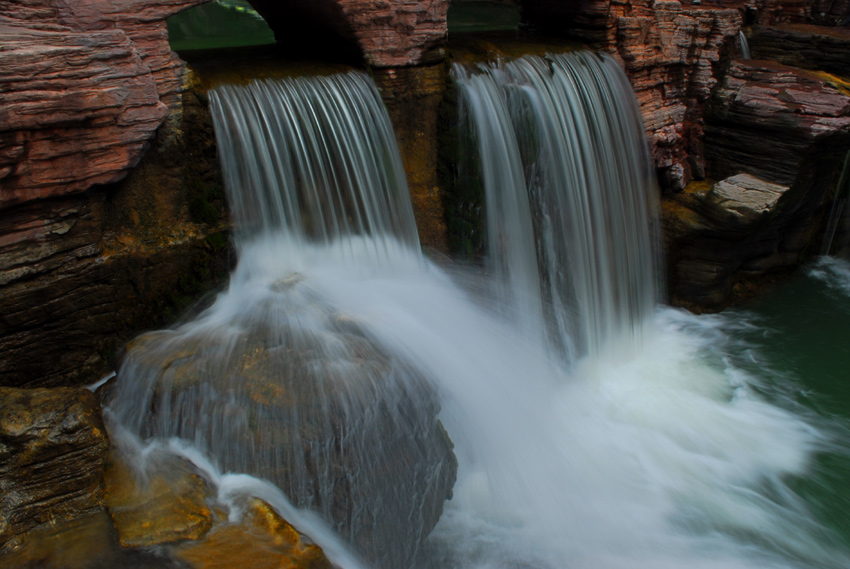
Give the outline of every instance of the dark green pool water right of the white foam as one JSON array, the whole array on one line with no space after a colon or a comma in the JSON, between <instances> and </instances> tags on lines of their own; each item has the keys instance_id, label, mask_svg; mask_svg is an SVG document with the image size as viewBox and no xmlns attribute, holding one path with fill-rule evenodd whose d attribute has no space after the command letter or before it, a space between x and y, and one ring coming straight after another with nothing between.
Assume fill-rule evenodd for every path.
<instances>
[{"instance_id":1,"label":"dark green pool water right of the white foam","mask_svg":"<svg viewBox=\"0 0 850 569\"><path fill-rule=\"evenodd\" d=\"M850 262L823 258L747 310L723 315L736 367L828 435L810 476L789 481L850 547Z\"/></svg>"}]
</instances>

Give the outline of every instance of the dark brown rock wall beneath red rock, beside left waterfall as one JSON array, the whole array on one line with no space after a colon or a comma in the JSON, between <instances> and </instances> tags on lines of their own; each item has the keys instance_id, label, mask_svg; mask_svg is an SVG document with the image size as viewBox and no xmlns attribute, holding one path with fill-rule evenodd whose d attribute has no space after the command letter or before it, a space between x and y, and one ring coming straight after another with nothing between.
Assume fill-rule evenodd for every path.
<instances>
[{"instance_id":1,"label":"dark brown rock wall beneath red rock, beside left waterfall","mask_svg":"<svg viewBox=\"0 0 850 569\"><path fill-rule=\"evenodd\" d=\"M227 275L212 126L194 93L184 110L181 141L118 184L0 209L0 385L91 383Z\"/></svg>"}]
</instances>

